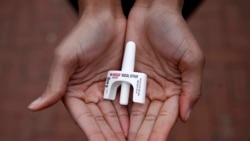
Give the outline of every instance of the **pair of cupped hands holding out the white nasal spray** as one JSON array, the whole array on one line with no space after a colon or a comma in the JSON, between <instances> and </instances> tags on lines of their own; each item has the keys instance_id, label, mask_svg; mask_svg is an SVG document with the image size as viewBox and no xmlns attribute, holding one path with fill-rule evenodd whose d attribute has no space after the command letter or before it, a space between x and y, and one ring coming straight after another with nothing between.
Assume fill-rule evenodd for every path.
<instances>
[{"instance_id":1,"label":"pair of cupped hands holding out the white nasal spray","mask_svg":"<svg viewBox=\"0 0 250 141\"><path fill-rule=\"evenodd\" d=\"M95 2L79 3L79 21L56 48L48 86L29 109L62 100L90 141L166 140L178 117L189 119L204 64L180 4L136 2L126 19L120 4ZM121 69L127 41L137 46L135 71L148 76L145 104L120 105L119 94L103 99L107 72Z\"/></svg>"}]
</instances>

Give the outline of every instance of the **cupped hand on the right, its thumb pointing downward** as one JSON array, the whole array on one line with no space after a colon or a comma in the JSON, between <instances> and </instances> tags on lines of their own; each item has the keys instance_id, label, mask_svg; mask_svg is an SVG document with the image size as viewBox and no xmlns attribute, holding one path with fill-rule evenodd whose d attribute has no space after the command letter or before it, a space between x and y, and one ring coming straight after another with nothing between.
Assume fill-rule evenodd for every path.
<instances>
[{"instance_id":1,"label":"cupped hand on the right, its thumb pointing downward","mask_svg":"<svg viewBox=\"0 0 250 141\"><path fill-rule=\"evenodd\" d=\"M135 70L148 75L146 104L132 104L128 139L166 140L200 96L202 52L181 14L160 5L133 7L126 40L137 44Z\"/></svg>"}]
</instances>

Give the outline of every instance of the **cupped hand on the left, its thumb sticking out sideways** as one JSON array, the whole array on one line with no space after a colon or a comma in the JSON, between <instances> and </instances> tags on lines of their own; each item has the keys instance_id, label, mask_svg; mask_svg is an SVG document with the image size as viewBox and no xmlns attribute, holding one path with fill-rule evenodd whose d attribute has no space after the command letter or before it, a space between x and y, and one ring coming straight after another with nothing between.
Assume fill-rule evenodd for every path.
<instances>
[{"instance_id":1,"label":"cupped hand on the left, its thumb sticking out sideways","mask_svg":"<svg viewBox=\"0 0 250 141\"><path fill-rule=\"evenodd\" d=\"M126 19L117 2L79 2L79 22L56 49L47 89L29 108L39 111L63 99L90 141L123 141L127 110L102 97L107 71L121 66Z\"/></svg>"}]
</instances>

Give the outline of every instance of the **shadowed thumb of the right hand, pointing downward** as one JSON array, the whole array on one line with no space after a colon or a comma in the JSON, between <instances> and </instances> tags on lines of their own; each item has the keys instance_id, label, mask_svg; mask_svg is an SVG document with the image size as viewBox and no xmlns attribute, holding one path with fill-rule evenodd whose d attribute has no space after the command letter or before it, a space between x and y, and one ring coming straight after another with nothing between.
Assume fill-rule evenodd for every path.
<instances>
[{"instance_id":1,"label":"shadowed thumb of the right hand, pointing downward","mask_svg":"<svg viewBox=\"0 0 250 141\"><path fill-rule=\"evenodd\" d=\"M195 55L184 56L183 60L185 61L180 63L182 72L182 92L179 103L182 121L187 121L189 119L195 103L201 96L204 56L199 49L196 49L196 52L193 54Z\"/></svg>"}]
</instances>

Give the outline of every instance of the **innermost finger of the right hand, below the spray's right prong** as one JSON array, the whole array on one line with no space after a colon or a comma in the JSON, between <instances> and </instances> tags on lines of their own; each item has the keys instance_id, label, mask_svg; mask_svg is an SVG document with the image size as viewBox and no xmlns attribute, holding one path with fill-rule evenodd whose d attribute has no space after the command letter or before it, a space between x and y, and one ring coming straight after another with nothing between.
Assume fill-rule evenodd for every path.
<instances>
[{"instance_id":1,"label":"innermost finger of the right hand, below the spray's right prong","mask_svg":"<svg viewBox=\"0 0 250 141\"><path fill-rule=\"evenodd\" d=\"M145 104L133 103L131 113L130 113L130 126L129 126L129 134L128 140L134 141L139 131L142 122L145 118L147 109L149 106L149 100L146 99Z\"/></svg>"}]
</instances>

